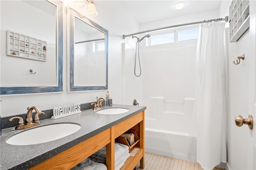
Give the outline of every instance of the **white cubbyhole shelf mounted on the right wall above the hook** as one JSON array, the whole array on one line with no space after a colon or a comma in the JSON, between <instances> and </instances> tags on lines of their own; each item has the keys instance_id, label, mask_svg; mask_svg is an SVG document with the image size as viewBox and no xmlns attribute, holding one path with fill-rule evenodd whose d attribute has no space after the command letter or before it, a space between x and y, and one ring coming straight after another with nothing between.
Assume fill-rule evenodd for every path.
<instances>
[{"instance_id":1,"label":"white cubbyhole shelf mounted on the right wall above the hook","mask_svg":"<svg viewBox=\"0 0 256 170\"><path fill-rule=\"evenodd\" d=\"M250 27L249 0L233 0L229 18L229 42L236 42Z\"/></svg>"}]
</instances>

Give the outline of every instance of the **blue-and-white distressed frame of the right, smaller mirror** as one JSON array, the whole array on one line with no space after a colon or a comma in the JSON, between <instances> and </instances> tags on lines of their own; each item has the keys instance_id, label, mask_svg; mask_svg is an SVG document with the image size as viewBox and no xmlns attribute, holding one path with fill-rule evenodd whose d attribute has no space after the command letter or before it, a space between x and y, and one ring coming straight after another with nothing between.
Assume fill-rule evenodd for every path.
<instances>
[{"instance_id":1,"label":"blue-and-white distressed frame of the right, smaller mirror","mask_svg":"<svg viewBox=\"0 0 256 170\"><path fill-rule=\"evenodd\" d=\"M105 64L106 64L106 76L104 86L75 86L74 85L74 18L79 18L86 24L92 26L96 30L105 34ZM92 20L86 18L82 14L76 12L72 8L68 8L68 54L69 54L69 77L68 77L68 92L74 91L91 91L91 90L106 90L108 89L108 30L102 28Z\"/></svg>"}]
</instances>

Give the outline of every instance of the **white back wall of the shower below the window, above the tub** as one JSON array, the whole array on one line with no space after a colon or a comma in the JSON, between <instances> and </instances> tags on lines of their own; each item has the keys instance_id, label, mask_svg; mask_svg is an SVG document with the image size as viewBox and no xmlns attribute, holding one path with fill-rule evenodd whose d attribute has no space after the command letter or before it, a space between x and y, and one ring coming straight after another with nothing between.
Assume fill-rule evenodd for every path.
<instances>
[{"instance_id":1,"label":"white back wall of the shower below the window, above the tub","mask_svg":"<svg viewBox=\"0 0 256 170\"><path fill-rule=\"evenodd\" d=\"M159 49L162 45L148 46L141 53L142 105L147 106L146 117L158 120L151 128L189 132L195 99L196 43L169 43L165 49Z\"/></svg>"}]
</instances>

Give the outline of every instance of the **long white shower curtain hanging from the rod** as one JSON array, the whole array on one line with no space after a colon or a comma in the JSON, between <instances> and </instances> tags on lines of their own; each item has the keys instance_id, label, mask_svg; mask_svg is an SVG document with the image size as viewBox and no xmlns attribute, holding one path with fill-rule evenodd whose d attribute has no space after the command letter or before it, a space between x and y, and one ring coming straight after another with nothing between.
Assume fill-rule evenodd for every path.
<instances>
[{"instance_id":1,"label":"long white shower curtain hanging from the rod","mask_svg":"<svg viewBox=\"0 0 256 170\"><path fill-rule=\"evenodd\" d=\"M202 24L196 51L196 159L205 170L226 163L224 22Z\"/></svg>"}]
</instances>

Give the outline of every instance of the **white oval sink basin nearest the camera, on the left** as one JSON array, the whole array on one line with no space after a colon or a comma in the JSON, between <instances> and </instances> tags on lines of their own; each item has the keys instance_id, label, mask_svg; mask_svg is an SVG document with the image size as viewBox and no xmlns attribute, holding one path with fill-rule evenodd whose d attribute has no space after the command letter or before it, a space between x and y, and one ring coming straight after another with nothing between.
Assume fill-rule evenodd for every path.
<instances>
[{"instance_id":1,"label":"white oval sink basin nearest the camera, on the left","mask_svg":"<svg viewBox=\"0 0 256 170\"><path fill-rule=\"evenodd\" d=\"M8 138L6 142L12 145L40 144L63 138L80 128L79 125L73 123L51 124L20 132Z\"/></svg>"}]
</instances>

